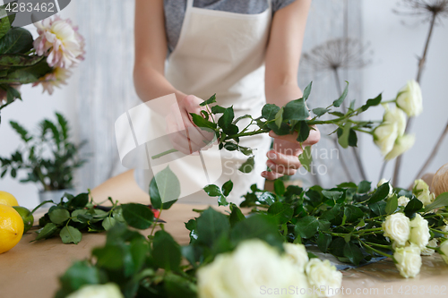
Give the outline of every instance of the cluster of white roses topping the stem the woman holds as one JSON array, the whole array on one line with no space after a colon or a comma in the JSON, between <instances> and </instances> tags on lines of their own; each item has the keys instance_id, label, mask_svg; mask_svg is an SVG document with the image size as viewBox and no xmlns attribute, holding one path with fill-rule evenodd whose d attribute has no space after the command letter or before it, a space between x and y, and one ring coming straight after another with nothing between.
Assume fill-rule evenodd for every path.
<instances>
[{"instance_id":1,"label":"cluster of white roses topping the stem the woman holds","mask_svg":"<svg viewBox=\"0 0 448 298\"><path fill-rule=\"evenodd\" d=\"M393 108L383 104L383 122L374 131L374 141L385 159L397 158L410 149L415 136L405 133L407 118L420 115L423 111L421 89L417 81L408 81L392 100Z\"/></svg>"}]
</instances>

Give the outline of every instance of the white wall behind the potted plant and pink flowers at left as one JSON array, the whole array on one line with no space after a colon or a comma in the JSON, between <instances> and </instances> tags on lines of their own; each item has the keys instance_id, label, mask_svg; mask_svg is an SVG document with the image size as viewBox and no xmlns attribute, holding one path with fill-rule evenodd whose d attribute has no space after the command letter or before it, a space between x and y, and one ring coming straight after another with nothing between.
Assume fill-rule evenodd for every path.
<instances>
[{"instance_id":1,"label":"white wall behind the potted plant and pink flowers at left","mask_svg":"<svg viewBox=\"0 0 448 298\"><path fill-rule=\"evenodd\" d=\"M75 1L72 1L64 11L59 15L62 18L70 18L73 20L75 12ZM76 23L75 20L73 20ZM26 26L25 29L30 30L36 38L37 33L34 25ZM74 93L76 92L75 81L78 72L76 69L73 76L68 81L67 86L62 89L56 89L52 96L47 92L42 94L42 87L32 88L30 85L22 86L23 101L18 100L11 106L7 106L2 110L2 124L0 125L0 156L8 157L15 149L18 148L21 140L17 133L11 129L9 122L11 120L21 123L29 130L36 130L37 123L44 118L55 119L55 111L62 113L68 118L72 126L73 136L76 137L76 127L78 126L75 119ZM22 173L20 176L26 176ZM24 207L32 209L39 204L38 187L33 183L19 183L19 179L12 179L8 174L4 179L0 179L0 190L11 192L13 196Z\"/></svg>"}]
</instances>

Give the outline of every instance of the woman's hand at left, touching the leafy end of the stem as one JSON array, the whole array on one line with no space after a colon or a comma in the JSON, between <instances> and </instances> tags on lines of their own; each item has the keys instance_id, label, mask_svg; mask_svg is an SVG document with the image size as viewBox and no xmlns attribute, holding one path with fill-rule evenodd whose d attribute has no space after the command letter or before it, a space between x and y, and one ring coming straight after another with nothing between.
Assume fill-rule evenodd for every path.
<instances>
[{"instance_id":1,"label":"woman's hand at left, touching the leafy end of the stem","mask_svg":"<svg viewBox=\"0 0 448 298\"><path fill-rule=\"evenodd\" d=\"M167 131L175 149L184 153L192 154L204 147L210 147L214 138L214 132L197 127L190 113L201 115L201 98L187 95L176 105L171 106L166 117ZM180 110L180 115L179 115Z\"/></svg>"}]
</instances>

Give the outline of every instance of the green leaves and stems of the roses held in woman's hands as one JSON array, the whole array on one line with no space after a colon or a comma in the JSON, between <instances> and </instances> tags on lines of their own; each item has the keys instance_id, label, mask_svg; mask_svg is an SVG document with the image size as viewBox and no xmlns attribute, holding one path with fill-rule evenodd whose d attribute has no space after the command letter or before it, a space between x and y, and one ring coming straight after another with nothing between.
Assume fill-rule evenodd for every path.
<instances>
[{"instance_id":1,"label":"green leaves and stems of the roses held in woman's hands","mask_svg":"<svg viewBox=\"0 0 448 298\"><path fill-rule=\"evenodd\" d=\"M202 110L199 115L191 114L192 120L196 126L214 132L216 139L219 141L220 149L229 151L240 151L248 158L247 161L238 168L242 173L250 173L254 169L254 156L252 149L239 145L242 137L253 136L260 133L275 132L278 135L287 135L296 133L296 140L300 143L305 142L309 137L313 125L331 124L337 128L338 141L342 148L358 146L358 132L373 134L375 125L370 121L357 121L355 117L365 112L370 106L378 106L381 104L381 94L372 99L368 99L364 106L355 108L355 101L351 101L347 111L338 111L333 108L339 108L349 95L349 82L342 92L340 98L334 100L332 105L326 107L315 107L313 109L314 117L311 117L306 99L311 93L312 83L304 89L302 98L289 101L285 106L276 106L274 104L266 104L262 108L262 115L254 118L252 115L241 115L235 118L233 106L223 107L216 104L216 94L208 100L201 103L206 110ZM213 104L209 108L208 105ZM214 117L211 117L214 115ZM323 115L332 115L331 119L319 120ZM217 121L215 121L215 118ZM249 123L242 129L237 123L242 119L248 119ZM309 150L309 149L308 149ZM171 153L173 150L162 152L153 158L159 158L165 154ZM311 155L302 154L299 157L300 162L307 170L310 170L312 162Z\"/></svg>"}]
</instances>

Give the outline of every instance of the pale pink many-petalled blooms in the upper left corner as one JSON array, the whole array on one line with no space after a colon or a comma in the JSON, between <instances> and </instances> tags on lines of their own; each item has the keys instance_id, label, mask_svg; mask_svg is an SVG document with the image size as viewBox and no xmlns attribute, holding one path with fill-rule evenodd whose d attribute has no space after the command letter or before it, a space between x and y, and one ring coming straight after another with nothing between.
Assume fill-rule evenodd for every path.
<instances>
[{"instance_id":1,"label":"pale pink many-petalled blooms in the upper left corner","mask_svg":"<svg viewBox=\"0 0 448 298\"><path fill-rule=\"evenodd\" d=\"M39 38L34 40L34 49L38 55L47 56L47 64L53 72L47 73L33 86L41 84L44 92L53 94L54 88L66 84L72 72L70 69L83 60L84 38L72 21L63 20L59 16L47 18L34 23Z\"/></svg>"}]
</instances>

